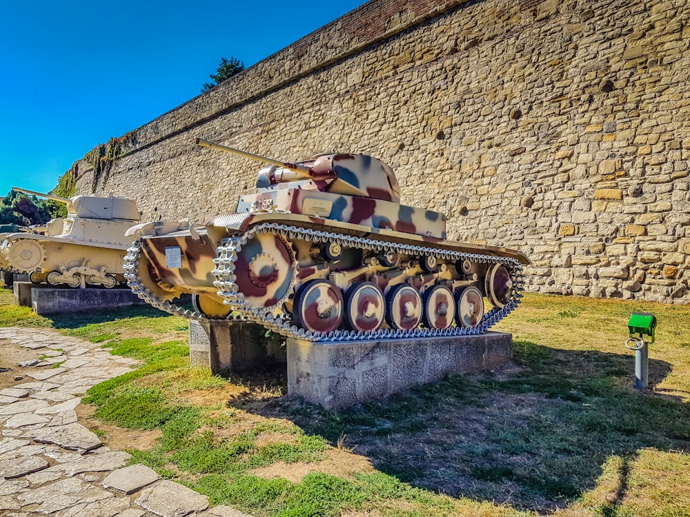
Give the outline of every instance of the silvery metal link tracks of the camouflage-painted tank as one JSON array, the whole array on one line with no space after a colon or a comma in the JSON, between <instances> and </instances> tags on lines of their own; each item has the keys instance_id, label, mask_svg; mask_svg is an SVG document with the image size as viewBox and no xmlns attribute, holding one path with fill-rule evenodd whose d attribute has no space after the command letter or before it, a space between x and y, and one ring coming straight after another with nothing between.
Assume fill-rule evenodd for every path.
<instances>
[{"instance_id":1,"label":"silvery metal link tracks of the camouflage-painted tank","mask_svg":"<svg viewBox=\"0 0 690 517\"><path fill-rule=\"evenodd\" d=\"M396 251L406 254L420 255L434 255L439 259L445 260L469 260L476 263L502 263L505 265L511 275L513 281L513 289L508 303L504 307L494 307L491 311L484 314L482 322L475 327L449 327L448 329L428 329L418 328L413 331L395 330L395 329L380 329L374 332L361 332L351 330L336 330L334 332L312 332L311 330L304 330L298 328L290 321L289 316L284 314L282 310L264 309L261 307L254 307L244 301L244 295L239 292L235 280L237 279L235 271L235 260L237 254L242 250L242 246L252 239L256 234L273 233L274 235L282 235L288 241L295 239L304 239L305 241L313 241L314 243L321 242L337 242L343 247L355 247L362 250L371 250L373 252L387 252ZM196 311L190 311L177 307L177 305L169 301L163 301L152 295L141 284L137 274L137 258L141 251L141 242L135 242L132 247L128 249L128 254L125 258L125 277L127 283L132 291L143 298L146 302L160 310L175 314L176 316L184 316L188 319L195 319L197 321L223 321L213 320ZM302 339L305 341L353 341L353 340L380 340L380 339L400 339L400 338L425 338L436 336L464 336L483 334L489 327L508 316L524 294L524 276L522 274L522 264L511 257L494 256L488 254L464 253L455 252L453 250L440 250L436 247L410 245L401 243L391 243L386 241L378 241L375 239L367 239L364 237L357 237L348 234L337 232L324 232L319 230L312 230L304 227L296 227L292 225L284 225L279 223L263 223L256 227L250 228L242 235L231 236L221 241L221 245L217 247L217 257L213 259L216 267L213 274L216 281L213 283L218 288L218 294L224 298L225 303L230 305L231 312L226 320L229 321L252 321L259 323L273 332L277 332L282 336L288 338Z\"/></svg>"}]
</instances>

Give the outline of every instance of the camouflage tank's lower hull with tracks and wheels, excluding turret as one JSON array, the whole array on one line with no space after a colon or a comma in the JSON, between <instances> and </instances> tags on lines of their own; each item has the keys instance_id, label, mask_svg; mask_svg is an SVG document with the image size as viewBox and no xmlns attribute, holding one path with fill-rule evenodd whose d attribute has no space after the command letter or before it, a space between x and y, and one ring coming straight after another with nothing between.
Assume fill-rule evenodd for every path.
<instances>
[{"instance_id":1,"label":"camouflage tank's lower hull with tracks and wheels, excluding turret","mask_svg":"<svg viewBox=\"0 0 690 517\"><path fill-rule=\"evenodd\" d=\"M313 341L485 332L519 303L529 263L503 247L284 212L130 233L126 277L152 305ZM196 310L175 305L183 293Z\"/></svg>"}]
</instances>

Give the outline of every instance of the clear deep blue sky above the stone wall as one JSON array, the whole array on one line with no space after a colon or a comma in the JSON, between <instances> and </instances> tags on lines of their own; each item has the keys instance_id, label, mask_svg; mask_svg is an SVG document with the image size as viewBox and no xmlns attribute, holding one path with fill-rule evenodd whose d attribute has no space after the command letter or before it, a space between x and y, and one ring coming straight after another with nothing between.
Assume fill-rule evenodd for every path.
<instances>
[{"instance_id":1,"label":"clear deep blue sky above the stone wall","mask_svg":"<svg viewBox=\"0 0 690 517\"><path fill-rule=\"evenodd\" d=\"M364 0L2 2L0 196L48 192L95 145L196 97Z\"/></svg>"}]
</instances>

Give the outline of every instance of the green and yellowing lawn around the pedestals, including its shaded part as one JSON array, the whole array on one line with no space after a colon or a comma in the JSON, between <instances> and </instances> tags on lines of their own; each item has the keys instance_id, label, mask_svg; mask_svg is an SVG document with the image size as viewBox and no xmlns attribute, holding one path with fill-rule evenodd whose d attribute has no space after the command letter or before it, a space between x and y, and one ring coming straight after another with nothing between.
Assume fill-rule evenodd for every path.
<instances>
[{"instance_id":1,"label":"green and yellowing lawn around the pedestals, including its shaded part","mask_svg":"<svg viewBox=\"0 0 690 517\"><path fill-rule=\"evenodd\" d=\"M631 312L658 317L653 389L633 389ZM90 389L132 461L256 516L689 516L690 307L529 295L495 330L515 362L331 414L284 372L188 367L187 323L139 308L41 318L0 292L0 325L52 326L141 359Z\"/></svg>"}]
</instances>

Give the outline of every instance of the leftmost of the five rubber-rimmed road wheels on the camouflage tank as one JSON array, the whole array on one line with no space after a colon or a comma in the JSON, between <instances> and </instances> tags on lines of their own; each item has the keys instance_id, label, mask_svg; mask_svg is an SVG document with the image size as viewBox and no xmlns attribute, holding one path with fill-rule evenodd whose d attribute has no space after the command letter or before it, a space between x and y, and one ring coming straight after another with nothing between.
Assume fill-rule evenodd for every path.
<instances>
[{"instance_id":1,"label":"leftmost of the five rubber-rimmed road wheels on the camouflage tank","mask_svg":"<svg viewBox=\"0 0 690 517\"><path fill-rule=\"evenodd\" d=\"M343 295L327 280L310 280L299 287L293 303L293 318L304 330L332 332L340 326Z\"/></svg>"}]
</instances>

